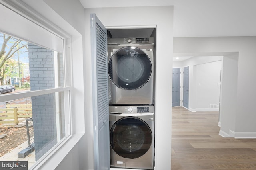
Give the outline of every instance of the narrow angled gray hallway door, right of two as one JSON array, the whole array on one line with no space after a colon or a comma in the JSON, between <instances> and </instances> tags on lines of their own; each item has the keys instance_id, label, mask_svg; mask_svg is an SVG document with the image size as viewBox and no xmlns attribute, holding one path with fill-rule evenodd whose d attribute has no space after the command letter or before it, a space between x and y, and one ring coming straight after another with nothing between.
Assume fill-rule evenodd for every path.
<instances>
[{"instance_id":1,"label":"narrow angled gray hallway door, right of two","mask_svg":"<svg viewBox=\"0 0 256 170\"><path fill-rule=\"evenodd\" d=\"M183 68L183 106L188 109L188 81L189 81L189 67Z\"/></svg>"}]
</instances>

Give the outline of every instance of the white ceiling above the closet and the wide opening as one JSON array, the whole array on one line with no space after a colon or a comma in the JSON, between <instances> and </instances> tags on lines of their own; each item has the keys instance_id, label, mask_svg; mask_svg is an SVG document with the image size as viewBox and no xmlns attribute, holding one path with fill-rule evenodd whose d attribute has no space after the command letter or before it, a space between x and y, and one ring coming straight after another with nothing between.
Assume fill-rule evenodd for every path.
<instances>
[{"instance_id":1,"label":"white ceiling above the closet and the wide opening","mask_svg":"<svg viewBox=\"0 0 256 170\"><path fill-rule=\"evenodd\" d=\"M174 37L256 36L256 0L80 0L84 8L174 6Z\"/></svg>"}]
</instances>

